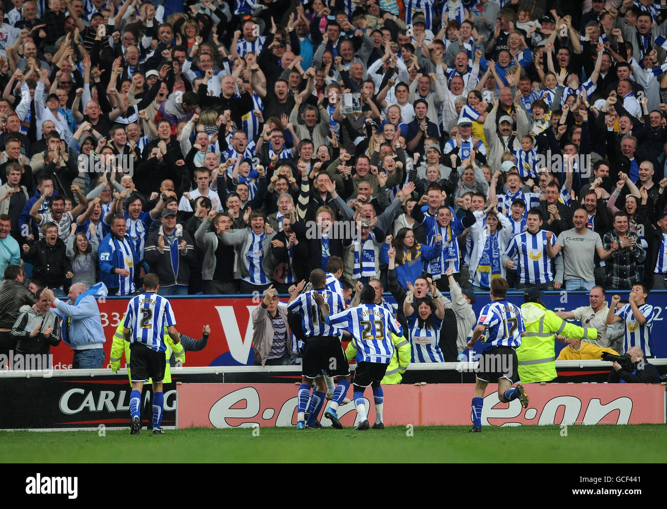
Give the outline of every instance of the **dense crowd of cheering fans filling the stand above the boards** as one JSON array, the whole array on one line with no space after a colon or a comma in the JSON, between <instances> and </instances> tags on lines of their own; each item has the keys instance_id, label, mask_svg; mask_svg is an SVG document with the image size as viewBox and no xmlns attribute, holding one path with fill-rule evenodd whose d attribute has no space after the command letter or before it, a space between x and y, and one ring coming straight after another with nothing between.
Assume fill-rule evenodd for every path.
<instances>
[{"instance_id":1,"label":"dense crowd of cheering fans filling the stand above the boards","mask_svg":"<svg viewBox=\"0 0 667 509\"><path fill-rule=\"evenodd\" d=\"M172 4L5 2L0 273L667 288L664 5Z\"/></svg>"}]
</instances>

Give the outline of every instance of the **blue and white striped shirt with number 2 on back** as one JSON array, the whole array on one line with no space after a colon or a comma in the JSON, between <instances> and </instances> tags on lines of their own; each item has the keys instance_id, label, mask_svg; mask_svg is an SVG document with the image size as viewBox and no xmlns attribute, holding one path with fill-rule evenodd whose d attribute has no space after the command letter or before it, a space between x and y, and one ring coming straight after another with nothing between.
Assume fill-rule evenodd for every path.
<instances>
[{"instance_id":1,"label":"blue and white striped shirt with number 2 on back","mask_svg":"<svg viewBox=\"0 0 667 509\"><path fill-rule=\"evenodd\" d=\"M164 352L165 327L176 324L169 300L154 292L135 296L127 303L123 326L132 330L130 343L143 343L155 352Z\"/></svg>"}]
</instances>

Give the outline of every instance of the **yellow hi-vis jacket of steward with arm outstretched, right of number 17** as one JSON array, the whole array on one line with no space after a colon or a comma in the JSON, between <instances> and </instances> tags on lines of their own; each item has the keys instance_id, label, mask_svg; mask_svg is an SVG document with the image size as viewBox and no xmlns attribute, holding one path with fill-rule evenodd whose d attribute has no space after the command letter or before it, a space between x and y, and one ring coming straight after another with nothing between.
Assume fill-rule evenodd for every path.
<instances>
[{"instance_id":1,"label":"yellow hi-vis jacket of steward with arm outstretched, right of number 17","mask_svg":"<svg viewBox=\"0 0 667 509\"><path fill-rule=\"evenodd\" d=\"M546 309L542 304L526 302L521 306L526 335L516 349L519 378L522 383L549 382L556 378L556 334L568 338L596 339L594 328L581 328Z\"/></svg>"}]
</instances>

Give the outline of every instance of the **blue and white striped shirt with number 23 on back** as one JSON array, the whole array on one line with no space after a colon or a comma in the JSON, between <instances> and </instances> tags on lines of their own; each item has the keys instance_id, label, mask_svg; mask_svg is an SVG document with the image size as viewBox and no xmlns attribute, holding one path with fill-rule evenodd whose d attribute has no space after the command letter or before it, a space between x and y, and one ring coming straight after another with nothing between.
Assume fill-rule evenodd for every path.
<instances>
[{"instance_id":1,"label":"blue and white striped shirt with number 23 on back","mask_svg":"<svg viewBox=\"0 0 667 509\"><path fill-rule=\"evenodd\" d=\"M403 335L401 324L384 306L360 304L328 317L332 327L347 330L357 345L357 362L389 364L394 354L390 332Z\"/></svg>"}]
</instances>

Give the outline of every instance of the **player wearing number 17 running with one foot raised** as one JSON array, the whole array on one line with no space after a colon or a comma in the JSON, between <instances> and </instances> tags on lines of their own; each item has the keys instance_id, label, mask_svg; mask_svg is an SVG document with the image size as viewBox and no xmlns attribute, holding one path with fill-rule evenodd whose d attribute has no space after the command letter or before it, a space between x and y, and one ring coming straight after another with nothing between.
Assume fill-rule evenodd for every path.
<instances>
[{"instance_id":1,"label":"player wearing number 17 running with one foot raised","mask_svg":"<svg viewBox=\"0 0 667 509\"><path fill-rule=\"evenodd\" d=\"M471 433L482 432L482 407L484 391L489 382L498 382L498 399L507 403L516 398L521 406L528 408L528 395L522 384L516 388L512 385L519 380L516 348L521 344L521 337L526 333L521 310L505 300L509 286L504 278L491 281L491 303L486 304L480 312L468 348L472 349L478 338L488 328L488 336L482 342L480 366L476 369L477 382L472 398L472 415L474 427Z\"/></svg>"}]
</instances>

